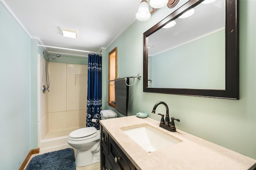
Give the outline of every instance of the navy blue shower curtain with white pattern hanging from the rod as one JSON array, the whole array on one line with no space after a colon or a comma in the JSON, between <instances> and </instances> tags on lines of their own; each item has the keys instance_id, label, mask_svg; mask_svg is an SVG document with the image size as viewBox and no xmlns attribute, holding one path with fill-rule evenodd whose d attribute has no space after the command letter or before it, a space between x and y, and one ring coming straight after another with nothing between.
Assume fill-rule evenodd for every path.
<instances>
[{"instance_id":1,"label":"navy blue shower curtain with white pattern hanging from the rod","mask_svg":"<svg viewBox=\"0 0 256 170\"><path fill-rule=\"evenodd\" d=\"M100 111L102 109L102 56L88 55L88 92L86 127L100 129ZM98 122L92 122L97 119Z\"/></svg>"}]
</instances>

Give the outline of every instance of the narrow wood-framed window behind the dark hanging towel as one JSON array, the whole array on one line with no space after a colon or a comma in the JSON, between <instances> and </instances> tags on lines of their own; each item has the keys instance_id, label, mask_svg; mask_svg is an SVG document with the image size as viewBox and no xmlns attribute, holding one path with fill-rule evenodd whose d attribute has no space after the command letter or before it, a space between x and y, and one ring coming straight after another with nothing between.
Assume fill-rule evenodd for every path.
<instances>
[{"instance_id":1,"label":"narrow wood-framed window behind the dark hanging towel","mask_svg":"<svg viewBox=\"0 0 256 170\"><path fill-rule=\"evenodd\" d=\"M108 80L114 80L115 78L117 78L117 47L115 47L112 51L108 53ZM114 82L108 82L108 102L107 103L108 103L108 106L116 108L116 104L111 103L111 101L116 102L115 85L110 86L110 84L114 84Z\"/></svg>"}]
</instances>

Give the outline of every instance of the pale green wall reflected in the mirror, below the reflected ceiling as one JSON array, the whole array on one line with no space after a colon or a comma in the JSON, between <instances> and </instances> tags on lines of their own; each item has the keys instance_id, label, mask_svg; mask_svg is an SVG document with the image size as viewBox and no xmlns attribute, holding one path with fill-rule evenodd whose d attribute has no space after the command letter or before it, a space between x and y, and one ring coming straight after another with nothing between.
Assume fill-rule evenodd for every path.
<instances>
[{"instance_id":1,"label":"pale green wall reflected in the mirror, below the reflected ceiling","mask_svg":"<svg viewBox=\"0 0 256 170\"><path fill-rule=\"evenodd\" d=\"M154 55L150 62L150 87L224 90L225 30Z\"/></svg>"}]
</instances>

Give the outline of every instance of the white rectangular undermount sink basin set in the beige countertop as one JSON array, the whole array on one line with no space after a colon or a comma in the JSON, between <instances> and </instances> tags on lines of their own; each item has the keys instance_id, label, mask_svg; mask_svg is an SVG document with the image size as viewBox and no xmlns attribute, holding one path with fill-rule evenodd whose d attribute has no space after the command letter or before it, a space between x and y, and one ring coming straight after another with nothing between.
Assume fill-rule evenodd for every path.
<instances>
[{"instance_id":1,"label":"white rectangular undermount sink basin set in the beige countertop","mask_svg":"<svg viewBox=\"0 0 256 170\"><path fill-rule=\"evenodd\" d=\"M147 123L121 127L121 130L147 152L154 152L182 142Z\"/></svg>"}]
</instances>

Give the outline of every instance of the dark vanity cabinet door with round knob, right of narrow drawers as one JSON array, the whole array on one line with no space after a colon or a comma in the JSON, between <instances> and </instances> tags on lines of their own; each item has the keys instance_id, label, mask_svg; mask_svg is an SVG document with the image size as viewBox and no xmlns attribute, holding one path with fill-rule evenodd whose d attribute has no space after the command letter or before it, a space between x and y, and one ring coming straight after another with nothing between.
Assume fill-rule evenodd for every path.
<instances>
[{"instance_id":1,"label":"dark vanity cabinet door with round knob, right of narrow drawers","mask_svg":"<svg viewBox=\"0 0 256 170\"><path fill-rule=\"evenodd\" d=\"M115 169L135 170L135 166L110 136L108 137L108 156L110 162L114 162Z\"/></svg>"}]
</instances>

